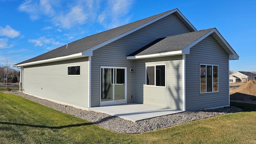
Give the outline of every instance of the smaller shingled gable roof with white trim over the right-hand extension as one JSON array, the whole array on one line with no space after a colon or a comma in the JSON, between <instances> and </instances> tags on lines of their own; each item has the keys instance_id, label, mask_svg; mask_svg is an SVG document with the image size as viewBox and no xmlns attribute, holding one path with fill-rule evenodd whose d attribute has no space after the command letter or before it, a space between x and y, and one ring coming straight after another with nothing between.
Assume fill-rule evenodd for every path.
<instances>
[{"instance_id":1,"label":"smaller shingled gable roof with white trim over the right-hand extension","mask_svg":"<svg viewBox=\"0 0 256 144\"><path fill-rule=\"evenodd\" d=\"M127 59L153 58L189 54L190 48L209 35L212 35L222 48L229 54L229 59L238 59L239 56L220 35L216 28L188 32L175 36L157 39L127 56Z\"/></svg>"}]
</instances>

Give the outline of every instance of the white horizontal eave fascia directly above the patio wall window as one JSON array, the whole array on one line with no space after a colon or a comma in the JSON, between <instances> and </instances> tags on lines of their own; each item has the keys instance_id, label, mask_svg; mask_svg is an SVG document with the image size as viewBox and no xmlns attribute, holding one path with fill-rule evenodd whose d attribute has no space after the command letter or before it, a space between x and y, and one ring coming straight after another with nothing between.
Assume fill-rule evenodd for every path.
<instances>
[{"instance_id":1,"label":"white horizontal eave fascia directly above the patio wall window","mask_svg":"<svg viewBox=\"0 0 256 144\"><path fill-rule=\"evenodd\" d=\"M185 53L182 53L182 50L174 51L174 52L163 52L158 54L147 54L147 55L141 55L141 56L127 56L127 60L135 60L135 59L144 59L144 58L159 58L164 56L177 56L177 55L183 55Z\"/></svg>"}]
</instances>

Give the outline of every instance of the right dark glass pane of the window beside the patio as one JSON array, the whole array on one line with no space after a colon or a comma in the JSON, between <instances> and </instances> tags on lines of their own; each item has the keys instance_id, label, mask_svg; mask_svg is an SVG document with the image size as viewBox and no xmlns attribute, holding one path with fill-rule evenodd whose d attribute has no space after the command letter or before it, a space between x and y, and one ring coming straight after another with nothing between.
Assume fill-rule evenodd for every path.
<instances>
[{"instance_id":1,"label":"right dark glass pane of the window beside the patio","mask_svg":"<svg viewBox=\"0 0 256 144\"><path fill-rule=\"evenodd\" d=\"M156 66L156 86L165 86L165 66Z\"/></svg>"}]
</instances>

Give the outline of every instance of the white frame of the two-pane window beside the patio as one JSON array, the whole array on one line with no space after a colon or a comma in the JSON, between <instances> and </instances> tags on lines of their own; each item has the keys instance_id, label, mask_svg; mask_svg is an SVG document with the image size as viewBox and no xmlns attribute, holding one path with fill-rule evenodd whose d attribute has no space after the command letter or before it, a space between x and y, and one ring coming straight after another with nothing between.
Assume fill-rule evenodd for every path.
<instances>
[{"instance_id":1,"label":"white frame of the two-pane window beside the patio","mask_svg":"<svg viewBox=\"0 0 256 144\"><path fill-rule=\"evenodd\" d=\"M156 66L164 66L164 86L156 85ZM154 85L148 84L148 67L154 67ZM166 64L148 64L146 65L145 70L145 84L146 86L154 86L154 87L166 87Z\"/></svg>"}]
</instances>

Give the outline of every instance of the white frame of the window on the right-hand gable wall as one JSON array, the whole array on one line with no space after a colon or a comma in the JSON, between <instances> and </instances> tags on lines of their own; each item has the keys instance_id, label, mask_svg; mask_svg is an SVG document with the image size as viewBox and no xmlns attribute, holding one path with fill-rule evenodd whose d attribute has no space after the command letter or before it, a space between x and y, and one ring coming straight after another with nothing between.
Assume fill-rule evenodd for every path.
<instances>
[{"instance_id":1,"label":"white frame of the window on the right-hand gable wall","mask_svg":"<svg viewBox=\"0 0 256 144\"><path fill-rule=\"evenodd\" d=\"M201 69L201 66L205 66L205 92L201 92L201 74L202 74L202 69ZM209 67L209 66L211 66L211 73L209 73L209 74L211 74L211 84L212 84L212 91L207 91L207 75L208 75L208 71L207 71L207 67ZM214 91L214 66L217 66L217 71L218 71L218 73L217 73L217 91ZM216 65L216 64L200 64L200 66L199 66L199 82L200 82L200 85L199 85L199 92L200 92L200 94L205 94L205 93L215 93L215 92L219 92L219 65Z\"/></svg>"}]
</instances>

